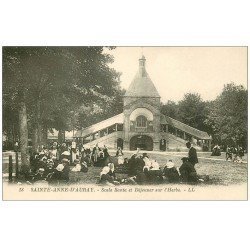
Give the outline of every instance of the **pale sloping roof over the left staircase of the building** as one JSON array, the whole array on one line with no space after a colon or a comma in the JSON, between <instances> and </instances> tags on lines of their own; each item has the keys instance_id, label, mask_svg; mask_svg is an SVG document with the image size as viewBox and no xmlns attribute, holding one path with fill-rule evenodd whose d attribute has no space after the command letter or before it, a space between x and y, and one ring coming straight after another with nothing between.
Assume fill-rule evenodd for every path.
<instances>
[{"instance_id":1,"label":"pale sloping roof over the left staircase of the building","mask_svg":"<svg viewBox=\"0 0 250 250\"><path fill-rule=\"evenodd\" d=\"M93 124L87 128L84 128L82 130L78 130L75 134L75 137L86 137L92 133L98 132L102 129L105 129L109 126L112 126L114 124L123 124L124 122L124 115L123 113L113 116L107 120L98 122L96 124Z\"/></svg>"}]
</instances>

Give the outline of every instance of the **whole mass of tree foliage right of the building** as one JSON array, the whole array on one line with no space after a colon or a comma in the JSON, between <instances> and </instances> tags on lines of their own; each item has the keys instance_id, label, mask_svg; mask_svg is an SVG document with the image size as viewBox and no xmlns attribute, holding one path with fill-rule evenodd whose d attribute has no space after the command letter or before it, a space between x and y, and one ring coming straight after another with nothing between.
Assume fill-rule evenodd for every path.
<instances>
[{"instance_id":1,"label":"whole mass of tree foliage right of the building","mask_svg":"<svg viewBox=\"0 0 250 250\"><path fill-rule=\"evenodd\" d=\"M178 102L168 101L161 112L212 135L215 144L247 147L247 90L235 83L224 86L214 101L187 93Z\"/></svg>"}]
</instances>

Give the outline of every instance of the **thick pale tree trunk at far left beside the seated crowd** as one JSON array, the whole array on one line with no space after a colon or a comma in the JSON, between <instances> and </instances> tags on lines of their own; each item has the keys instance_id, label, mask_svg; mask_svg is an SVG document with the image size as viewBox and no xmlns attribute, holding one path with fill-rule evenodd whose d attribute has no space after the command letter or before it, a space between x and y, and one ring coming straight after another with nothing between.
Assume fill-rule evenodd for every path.
<instances>
[{"instance_id":1,"label":"thick pale tree trunk at far left beside the seated crowd","mask_svg":"<svg viewBox=\"0 0 250 250\"><path fill-rule=\"evenodd\" d=\"M21 101L19 109L19 133L21 151L21 172L29 171L29 149L28 149L28 122L26 104Z\"/></svg>"}]
</instances>

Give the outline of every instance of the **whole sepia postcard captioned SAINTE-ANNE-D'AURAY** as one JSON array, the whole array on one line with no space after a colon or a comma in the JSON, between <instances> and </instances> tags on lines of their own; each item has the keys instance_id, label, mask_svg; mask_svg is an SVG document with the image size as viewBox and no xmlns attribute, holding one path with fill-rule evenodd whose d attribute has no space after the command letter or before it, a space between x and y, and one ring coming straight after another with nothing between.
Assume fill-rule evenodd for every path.
<instances>
[{"instance_id":1,"label":"whole sepia postcard captioned SAINTE-ANNE-D'AURAY","mask_svg":"<svg viewBox=\"0 0 250 250\"><path fill-rule=\"evenodd\" d=\"M2 47L3 200L248 200L247 47Z\"/></svg>"}]
</instances>

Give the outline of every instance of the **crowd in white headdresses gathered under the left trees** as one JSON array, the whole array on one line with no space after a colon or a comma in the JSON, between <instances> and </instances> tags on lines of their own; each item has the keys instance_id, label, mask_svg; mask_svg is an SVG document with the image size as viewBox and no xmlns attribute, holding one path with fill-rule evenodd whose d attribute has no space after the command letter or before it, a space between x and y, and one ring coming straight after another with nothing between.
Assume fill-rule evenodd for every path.
<instances>
[{"instance_id":1,"label":"crowd in white headdresses gathered under the left trees","mask_svg":"<svg viewBox=\"0 0 250 250\"><path fill-rule=\"evenodd\" d=\"M31 172L26 179L30 184L38 181L51 184L68 183L70 172L86 173L89 167L103 167L108 158L106 146L101 148L97 144L91 150L81 144L77 145L74 141L61 145L53 142L48 147L42 146L31 156Z\"/></svg>"}]
</instances>

